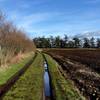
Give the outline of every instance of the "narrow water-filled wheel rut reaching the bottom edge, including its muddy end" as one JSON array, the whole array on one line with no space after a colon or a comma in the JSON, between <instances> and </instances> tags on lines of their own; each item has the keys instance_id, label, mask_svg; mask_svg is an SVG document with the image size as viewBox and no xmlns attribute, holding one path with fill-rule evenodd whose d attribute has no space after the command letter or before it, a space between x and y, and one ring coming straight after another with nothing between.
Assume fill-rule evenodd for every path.
<instances>
[{"instance_id":1,"label":"narrow water-filled wheel rut reaching the bottom edge, including its muddy end","mask_svg":"<svg viewBox=\"0 0 100 100\"><path fill-rule=\"evenodd\" d=\"M45 100L51 100L51 87L50 87L50 78L48 72L48 64L44 62L44 90L45 90Z\"/></svg>"}]
</instances>

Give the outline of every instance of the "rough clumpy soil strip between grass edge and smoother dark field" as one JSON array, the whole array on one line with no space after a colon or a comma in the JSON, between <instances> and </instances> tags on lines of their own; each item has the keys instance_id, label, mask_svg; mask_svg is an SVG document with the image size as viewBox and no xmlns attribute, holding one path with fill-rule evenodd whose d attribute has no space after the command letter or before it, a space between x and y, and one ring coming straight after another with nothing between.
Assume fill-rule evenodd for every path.
<instances>
[{"instance_id":1,"label":"rough clumpy soil strip between grass edge and smoother dark field","mask_svg":"<svg viewBox=\"0 0 100 100\"><path fill-rule=\"evenodd\" d=\"M100 76L83 64L72 62L61 56L51 55L63 68L66 75L73 80L81 94L87 100L100 100Z\"/></svg>"}]
</instances>

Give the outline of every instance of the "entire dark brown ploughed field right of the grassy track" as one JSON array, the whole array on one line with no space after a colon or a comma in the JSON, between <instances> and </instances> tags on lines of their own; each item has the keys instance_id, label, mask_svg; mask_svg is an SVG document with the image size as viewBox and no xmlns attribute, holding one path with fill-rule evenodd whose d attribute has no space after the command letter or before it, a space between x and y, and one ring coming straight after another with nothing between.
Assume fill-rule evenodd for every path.
<instances>
[{"instance_id":1,"label":"entire dark brown ploughed field right of the grassy track","mask_svg":"<svg viewBox=\"0 0 100 100\"><path fill-rule=\"evenodd\" d=\"M45 49L87 100L100 100L99 49Z\"/></svg>"}]
</instances>

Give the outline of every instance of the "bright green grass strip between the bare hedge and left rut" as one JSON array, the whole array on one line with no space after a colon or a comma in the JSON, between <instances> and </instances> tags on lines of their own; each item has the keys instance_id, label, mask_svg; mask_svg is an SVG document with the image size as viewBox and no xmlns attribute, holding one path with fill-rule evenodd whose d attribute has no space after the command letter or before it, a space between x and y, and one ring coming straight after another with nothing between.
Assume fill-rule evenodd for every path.
<instances>
[{"instance_id":1,"label":"bright green grass strip between the bare hedge and left rut","mask_svg":"<svg viewBox=\"0 0 100 100\"><path fill-rule=\"evenodd\" d=\"M33 54L29 54L28 57L25 57L19 63L9 65L8 68L0 70L0 85L6 84L6 82L21 68L24 67L33 57Z\"/></svg>"}]
</instances>

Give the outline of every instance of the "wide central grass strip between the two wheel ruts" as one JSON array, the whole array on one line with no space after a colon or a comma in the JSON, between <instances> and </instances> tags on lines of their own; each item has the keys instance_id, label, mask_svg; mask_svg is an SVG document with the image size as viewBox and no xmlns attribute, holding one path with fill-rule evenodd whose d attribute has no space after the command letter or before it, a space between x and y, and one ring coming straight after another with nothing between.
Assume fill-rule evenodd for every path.
<instances>
[{"instance_id":1,"label":"wide central grass strip between the two wheel ruts","mask_svg":"<svg viewBox=\"0 0 100 100\"><path fill-rule=\"evenodd\" d=\"M43 57L37 54L32 65L5 94L3 100L41 100L43 90Z\"/></svg>"}]
</instances>

